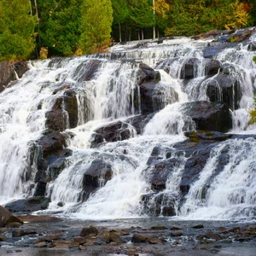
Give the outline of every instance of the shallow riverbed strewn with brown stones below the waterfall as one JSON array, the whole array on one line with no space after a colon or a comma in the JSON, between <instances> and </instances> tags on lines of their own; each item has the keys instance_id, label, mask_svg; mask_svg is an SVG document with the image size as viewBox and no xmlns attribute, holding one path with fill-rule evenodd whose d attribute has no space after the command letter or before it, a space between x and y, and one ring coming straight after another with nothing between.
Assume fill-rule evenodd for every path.
<instances>
[{"instance_id":1,"label":"shallow riverbed strewn with brown stones below the waterfall","mask_svg":"<svg viewBox=\"0 0 256 256\"><path fill-rule=\"evenodd\" d=\"M1 209L3 219L5 209ZM2 226L1 255L253 256L256 250L255 223L175 218L84 221L10 213Z\"/></svg>"}]
</instances>

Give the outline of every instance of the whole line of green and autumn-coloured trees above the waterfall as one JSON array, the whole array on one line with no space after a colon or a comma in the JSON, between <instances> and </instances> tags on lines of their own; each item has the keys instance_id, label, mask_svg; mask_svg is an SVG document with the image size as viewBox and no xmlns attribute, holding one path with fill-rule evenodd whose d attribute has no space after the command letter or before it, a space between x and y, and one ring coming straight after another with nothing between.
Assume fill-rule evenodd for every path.
<instances>
[{"instance_id":1,"label":"whole line of green and autumn-coloured trees above the waterfall","mask_svg":"<svg viewBox=\"0 0 256 256\"><path fill-rule=\"evenodd\" d=\"M0 0L0 61L256 25L255 0ZM253 5L254 4L254 5Z\"/></svg>"}]
</instances>

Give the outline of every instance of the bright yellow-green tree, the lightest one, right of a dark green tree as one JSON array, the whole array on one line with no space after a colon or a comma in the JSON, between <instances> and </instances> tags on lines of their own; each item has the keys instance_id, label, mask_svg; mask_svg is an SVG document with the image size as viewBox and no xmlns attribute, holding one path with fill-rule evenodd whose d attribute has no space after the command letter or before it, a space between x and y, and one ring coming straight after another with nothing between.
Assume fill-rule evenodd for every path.
<instances>
[{"instance_id":1,"label":"bright yellow-green tree, the lightest one, right of a dark green tree","mask_svg":"<svg viewBox=\"0 0 256 256\"><path fill-rule=\"evenodd\" d=\"M85 54L104 51L111 42L113 9L110 0L84 0L80 47Z\"/></svg>"}]
</instances>

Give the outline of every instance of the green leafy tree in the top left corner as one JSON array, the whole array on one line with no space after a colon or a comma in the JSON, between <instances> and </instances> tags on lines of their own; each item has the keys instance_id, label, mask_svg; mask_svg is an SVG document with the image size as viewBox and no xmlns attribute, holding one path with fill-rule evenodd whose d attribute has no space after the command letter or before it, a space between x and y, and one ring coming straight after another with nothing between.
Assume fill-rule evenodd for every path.
<instances>
[{"instance_id":1,"label":"green leafy tree in the top left corner","mask_svg":"<svg viewBox=\"0 0 256 256\"><path fill-rule=\"evenodd\" d=\"M29 0L0 1L0 61L26 60L35 47Z\"/></svg>"}]
</instances>

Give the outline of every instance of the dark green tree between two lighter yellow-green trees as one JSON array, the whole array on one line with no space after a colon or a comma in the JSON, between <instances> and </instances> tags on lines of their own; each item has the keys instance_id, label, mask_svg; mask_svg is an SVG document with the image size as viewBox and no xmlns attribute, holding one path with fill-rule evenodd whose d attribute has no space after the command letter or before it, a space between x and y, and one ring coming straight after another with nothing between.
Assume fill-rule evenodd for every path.
<instances>
[{"instance_id":1,"label":"dark green tree between two lighter yellow-green trees","mask_svg":"<svg viewBox=\"0 0 256 256\"><path fill-rule=\"evenodd\" d=\"M39 36L53 55L74 55L80 38L82 0L39 1Z\"/></svg>"}]
</instances>

